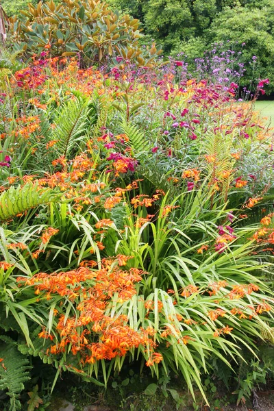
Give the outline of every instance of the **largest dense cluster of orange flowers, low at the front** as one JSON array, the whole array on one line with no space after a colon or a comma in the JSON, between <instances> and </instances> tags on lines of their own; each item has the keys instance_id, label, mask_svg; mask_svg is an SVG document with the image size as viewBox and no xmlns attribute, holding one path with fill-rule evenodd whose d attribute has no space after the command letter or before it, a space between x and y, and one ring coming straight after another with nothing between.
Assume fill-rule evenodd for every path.
<instances>
[{"instance_id":1,"label":"largest dense cluster of orange flowers, low at the front","mask_svg":"<svg viewBox=\"0 0 274 411\"><path fill-rule=\"evenodd\" d=\"M55 315L59 315L56 327L58 338L45 329L39 334L41 338L49 338L54 343L48 354L64 353L70 347L73 355L79 353L82 356L80 363L84 365L125 356L130 349L142 346L151 356L147 361L148 366L162 361L162 355L154 352L156 345L150 338L155 334L152 327L137 332L127 325L127 316L121 314L113 318L105 314L114 295L117 296L117 302L122 303L136 294L134 284L140 281L142 272L138 269L122 271L119 268L126 264L128 258L119 255L116 260L102 260L102 267L97 271L83 265L75 271L39 273L27 280L18 278L18 282L34 286L36 295L46 292L47 299L52 294L66 296L74 301L79 297L77 316L66 319L64 314L58 314L58 310L55 310Z\"/></svg>"}]
</instances>

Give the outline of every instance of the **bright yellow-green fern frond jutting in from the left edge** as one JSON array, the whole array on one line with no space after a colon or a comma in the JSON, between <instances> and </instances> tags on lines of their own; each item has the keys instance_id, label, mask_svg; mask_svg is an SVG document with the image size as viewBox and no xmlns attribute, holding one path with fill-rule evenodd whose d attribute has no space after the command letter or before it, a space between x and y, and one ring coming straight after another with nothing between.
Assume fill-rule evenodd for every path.
<instances>
[{"instance_id":1,"label":"bright yellow-green fern frond jutting in from the left edge","mask_svg":"<svg viewBox=\"0 0 274 411\"><path fill-rule=\"evenodd\" d=\"M40 206L53 201L58 201L61 194L51 188L38 188L38 184L28 183L15 188L11 186L0 195L0 220L12 219L29 208Z\"/></svg>"}]
</instances>

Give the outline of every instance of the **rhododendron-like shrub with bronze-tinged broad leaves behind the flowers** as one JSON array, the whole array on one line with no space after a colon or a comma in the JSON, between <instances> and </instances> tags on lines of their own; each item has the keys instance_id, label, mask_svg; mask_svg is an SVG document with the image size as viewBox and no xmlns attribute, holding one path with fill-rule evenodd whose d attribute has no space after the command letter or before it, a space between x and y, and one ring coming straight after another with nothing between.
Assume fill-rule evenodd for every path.
<instances>
[{"instance_id":1,"label":"rhododendron-like shrub with bronze-tinged broad leaves behind the flowers","mask_svg":"<svg viewBox=\"0 0 274 411\"><path fill-rule=\"evenodd\" d=\"M138 47L139 22L127 14L111 12L105 3L63 0L29 4L18 17L10 18L10 41L14 49L26 54L49 49L53 55L76 55L84 64L105 64L115 55L151 64L160 49ZM114 59L116 62L116 60Z\"/></svg>"}]
</instances>

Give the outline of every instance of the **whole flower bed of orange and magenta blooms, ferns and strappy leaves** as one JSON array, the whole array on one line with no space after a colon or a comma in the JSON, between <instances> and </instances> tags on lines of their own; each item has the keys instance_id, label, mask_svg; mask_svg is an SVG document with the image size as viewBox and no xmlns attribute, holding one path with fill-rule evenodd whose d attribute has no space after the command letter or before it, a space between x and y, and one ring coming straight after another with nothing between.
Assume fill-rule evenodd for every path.
<instances>
[{"instance_id":1,"label":"whole flower bed of orange and magenta blooms, ferns and strappy leaves","mask_svg":"<svg viewBox=\"0 0 274 411\"><path fill-rule=\"evenodd\" d=\"M137 364L177 373L194 401L212 375L245 401L258 378L237 370L252 359L263 383L273 344L271 128L234 77L123 55L83 68L46 46L1 53L3 407L21 408L36 357L53 388Z\"/></svg>"}]
</instances>

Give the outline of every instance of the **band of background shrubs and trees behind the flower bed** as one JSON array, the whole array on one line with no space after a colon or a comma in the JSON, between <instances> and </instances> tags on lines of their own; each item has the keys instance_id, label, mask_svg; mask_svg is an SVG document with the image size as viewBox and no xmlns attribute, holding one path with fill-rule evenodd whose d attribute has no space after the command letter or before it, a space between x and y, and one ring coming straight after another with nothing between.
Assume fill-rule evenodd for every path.
<instances>
[{"instance_id":1,"label":"band of background shrubs and trees behind the flower bed","mask_svg":"<svg viewBox=\"0 0 274 411\"><path fill-rule=\"evenodd\" d=\"M221 43L223 51L226 51L229 42L229 48L238 55L239 62L245 64L247 70L241 85L250 87L256 78L268 77L271 82L266 87L266 93L273 91L273 0L110 0L114 13L106 11L99 2L55 1L55 7L53 3L50 7L33 4L28 9L28 1L25 0L16 4L3 0L2 3L9 16L14 12L18 14L15 26L12 23L11 27L11 32L15 31L12 42L17 44L19 39L21 42L23 40L21 47L28 51L29 48L34 50L52 43L53 53L78 52L83 58L86 55L92 60L95 55L97 60L103 59L109 50L112 53L117 46L118 55L121 55L121 45L136 40L140 36L140 28L136 20L128 16L119 17L116 12L119 10L122 15L128 13L142 22L145 32L143 44L155 40L162 45L166 57L171 54L176 58L177 54L184 52L192 71L195 70L194 60L215 49L214 43ZM18 12L22 7L25 14ZM95 13L98 15L95 16ZM113 24L116 25L115 29ZM115 38L119 29L125 34L123 40ZM151 41L152 38L154 40ZM144 50L138 49L136 42L132 49L135 57L140 55L147 64L151 55L142 55ZM152 54L155 58L155 53ZM255 61L253 56L256 56Z\"/></svg>"}]
</instances>

